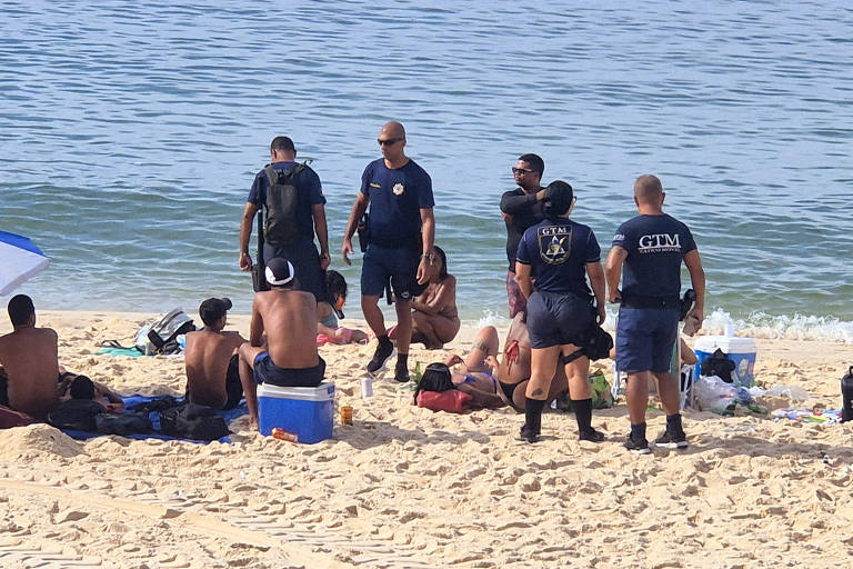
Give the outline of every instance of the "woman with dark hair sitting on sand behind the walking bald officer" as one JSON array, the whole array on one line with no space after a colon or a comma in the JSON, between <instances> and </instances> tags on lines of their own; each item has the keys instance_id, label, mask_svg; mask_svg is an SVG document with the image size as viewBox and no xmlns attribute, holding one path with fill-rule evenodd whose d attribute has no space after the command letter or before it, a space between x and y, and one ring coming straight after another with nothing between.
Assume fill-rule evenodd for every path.
<instances>
[{"instance_id":1,"label":"woman with dark hair sitting on sand behind the walking bald officer","mask_svg":"<svg viewBox=\"0 0 853 569\"><path fill-rule=\"evenodd\" d=\"M456 313L456 278L448 273L448 257L441 247L434 247L439 256L438 274L430 279L426 289L412 301L412 343L423 343L428 350L439 350L453 340L459 331ZM389 332L397 338L397 329Z\"/></svg>"}]
</instances>

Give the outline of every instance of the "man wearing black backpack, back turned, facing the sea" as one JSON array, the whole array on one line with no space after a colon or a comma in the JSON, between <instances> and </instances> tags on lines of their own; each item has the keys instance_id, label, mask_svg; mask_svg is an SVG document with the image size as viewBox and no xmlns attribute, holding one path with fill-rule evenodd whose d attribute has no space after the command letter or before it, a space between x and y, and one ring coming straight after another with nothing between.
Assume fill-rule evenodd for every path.
<instances>
[{"instance_id":1,"label":"man wearing black backpack, back turned, facing the sea","mask_svg":"<svg viewBox=\"0 0 853 569\"><path fill-rule=\"evenodd\" d=\"M271 163L258 172L240 222L240 269L252 270L249 238L252 220L263 209L263 233L258 236L260 278L255 290L265 290L264 260L288 259L299 274L300 289L327 300L323 271L329 267L329 233L325 224L325 197L320 177L308 163L297 163L297 149L289 137L275 137L270 144ZM314 233L320 242L318 253Z\"/></svg>"}]
</instances>

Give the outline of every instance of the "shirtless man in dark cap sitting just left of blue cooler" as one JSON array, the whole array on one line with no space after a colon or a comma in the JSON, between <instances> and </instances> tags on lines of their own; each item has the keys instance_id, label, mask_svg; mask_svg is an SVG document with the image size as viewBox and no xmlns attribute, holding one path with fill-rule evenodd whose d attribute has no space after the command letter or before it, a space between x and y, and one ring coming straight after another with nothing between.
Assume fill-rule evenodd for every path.
<instances>
[{"instance_id":1,"label":"shirtless man in dark cap sitting just left of blue cooler","mask_svg":"<svg viewBox=\"0 0 853 569\"><path fill-rule=\"evenodd\" d=\"M227 298L209 298L199 307L204 328L187 335L187 399L214 409L233 409L243 398L238 348L239 332L224 332L231 308Z\"/></svg>"}]
</instances>

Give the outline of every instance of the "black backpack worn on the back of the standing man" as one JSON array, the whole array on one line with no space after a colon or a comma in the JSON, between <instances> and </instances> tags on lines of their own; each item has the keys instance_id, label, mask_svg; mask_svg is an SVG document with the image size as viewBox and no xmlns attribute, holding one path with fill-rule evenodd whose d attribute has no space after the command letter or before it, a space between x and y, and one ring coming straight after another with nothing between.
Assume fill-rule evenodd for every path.
<instances>
[{"instance_id":1,"label":"black backpack worn on the back of the standing man","mask_svg":"<svg viewBox=\"0 0 853 569\"><path fill-rule=\"evenodd\" d=\"M281 173L272 164L263 169L270 181L270 188L267 190L263 237L273 247L289 244L297 237L297 202L299 201L297 177L305 168L308 164L301 163Z\"/></svg>"}]
</instances>

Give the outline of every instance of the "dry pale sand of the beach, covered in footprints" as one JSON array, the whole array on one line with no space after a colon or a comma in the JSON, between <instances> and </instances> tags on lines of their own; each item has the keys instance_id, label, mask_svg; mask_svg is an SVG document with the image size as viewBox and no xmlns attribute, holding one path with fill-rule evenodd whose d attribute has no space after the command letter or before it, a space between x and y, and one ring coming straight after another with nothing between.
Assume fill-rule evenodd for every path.
<instances>
[{"instance_id":1,"label":"dry pale sand of the beach, covered in footprints","mask_svg":"<svg viewBox=\"0 0 853 569\"><path fill-rule=\"evenodd\" d=\"M96 355L153 315L38 317L59 332L70 370L124 395L182 392L180 358ZM229 329L245 335L248 317ZM853 346L757 343L759 385L813 393L799 407L840 407ZM321 348L337 405L355 411L313 446L249 432L245 417L232 445L0 431L0 567L853 566L853 423L689 410L690 449L638 457L621 445L620 402L594 413L602 445L578 442L574 418L552 412L531 446L515 441L522 417L509 409L433 413L390 379L361 399L370 352ZM413 349L411 360L444 353ZM652 412L650 433L663 425Z\"/></svg>"}]
</instances>

